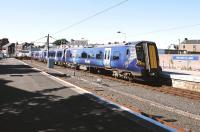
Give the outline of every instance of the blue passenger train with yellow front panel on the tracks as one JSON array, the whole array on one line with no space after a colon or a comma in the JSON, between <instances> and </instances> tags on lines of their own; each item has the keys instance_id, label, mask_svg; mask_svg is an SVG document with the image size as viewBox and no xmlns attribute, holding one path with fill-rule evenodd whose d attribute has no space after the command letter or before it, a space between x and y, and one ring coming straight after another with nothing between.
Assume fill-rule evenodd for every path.
<instances>
[{"instance_id":1,"label":"blue passenger train with yellow front panel on the tracks","mask_svg":"<svg viewBox=\"0 0 200 132\"><path fill-rule=\"evenodd\" d=\"M157 79L162 71L156 43L151 41L34 51L32 57L44 62L50 58L55 64L76 68L85 66L115 77Z\"/></svg>"}]
</instances>

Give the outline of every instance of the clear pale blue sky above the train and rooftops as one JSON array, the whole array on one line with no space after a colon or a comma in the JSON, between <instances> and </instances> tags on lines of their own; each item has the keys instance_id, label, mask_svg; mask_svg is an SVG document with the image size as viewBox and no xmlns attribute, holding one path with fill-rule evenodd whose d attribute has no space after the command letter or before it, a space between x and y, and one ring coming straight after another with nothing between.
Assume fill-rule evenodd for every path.
<instances>
[{"instance_id":1,"label":"clear pale blue sky above the train and rooftops","mask_svg":"<svg viewBox=\"0 0 200 132\"><path fill-rule=\"evenodd\" d=\"M199 0L127 0L66 28L121 1L0 0L0 38L19 43L47 34L54 39L84 38L89 43L148 40L156 42L158 48L178 44L184 38L200 39Z\"/></svg>"}]
</instances>

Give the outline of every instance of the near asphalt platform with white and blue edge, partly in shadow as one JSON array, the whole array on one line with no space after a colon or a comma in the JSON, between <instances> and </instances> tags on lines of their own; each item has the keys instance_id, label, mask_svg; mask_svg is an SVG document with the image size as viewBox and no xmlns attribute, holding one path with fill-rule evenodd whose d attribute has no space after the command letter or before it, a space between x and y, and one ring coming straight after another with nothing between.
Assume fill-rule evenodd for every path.
<instances>
[{"instance_id":1,"label":"near asphalt platform with white and blue edge, partly in shadow","mask_svg":"<svg viewBox=\"0 0 200 132\"><path fill-rule=\"evenodd\" d=\"M51 78L16 59L0 60L0 131L176 131Z\"/></svg>"}]
</instances>

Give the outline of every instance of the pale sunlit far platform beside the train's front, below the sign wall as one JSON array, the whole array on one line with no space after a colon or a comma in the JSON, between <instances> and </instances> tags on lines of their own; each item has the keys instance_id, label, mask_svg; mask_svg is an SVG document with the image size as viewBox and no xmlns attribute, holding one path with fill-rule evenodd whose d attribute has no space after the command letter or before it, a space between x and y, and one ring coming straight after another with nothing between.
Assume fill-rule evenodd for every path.
<instances>
[{"instance_id":1,"label":"pale sunlit far platform beside the train's front, below the sign wall","mask_svg":"<svg viewBox=\"0 0 200 132\"><path fill-rule=\"evenodd\" d=\"M161 77L170 79L175 88L200 92L200 71L163 69Z\"/></svg>"}]
</instances>

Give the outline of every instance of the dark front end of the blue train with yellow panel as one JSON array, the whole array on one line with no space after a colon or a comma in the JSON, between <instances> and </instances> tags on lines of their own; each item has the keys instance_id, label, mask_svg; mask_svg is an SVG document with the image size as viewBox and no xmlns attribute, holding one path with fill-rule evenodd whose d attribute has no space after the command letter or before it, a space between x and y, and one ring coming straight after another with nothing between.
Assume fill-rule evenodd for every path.
<instances>
[{"instance_id":1,"label":"dark front end of the blue train with yellow panel","mask_svg":"<svg viewBox=\"0 0 200 132\"><path fill-rule=\"evenodd\" d=\"M141 42L136 44L137 65L144 67L143 75L150 78L158 78L161 68L156 44L153 42Z\"/></svg>"}]
</instances>

